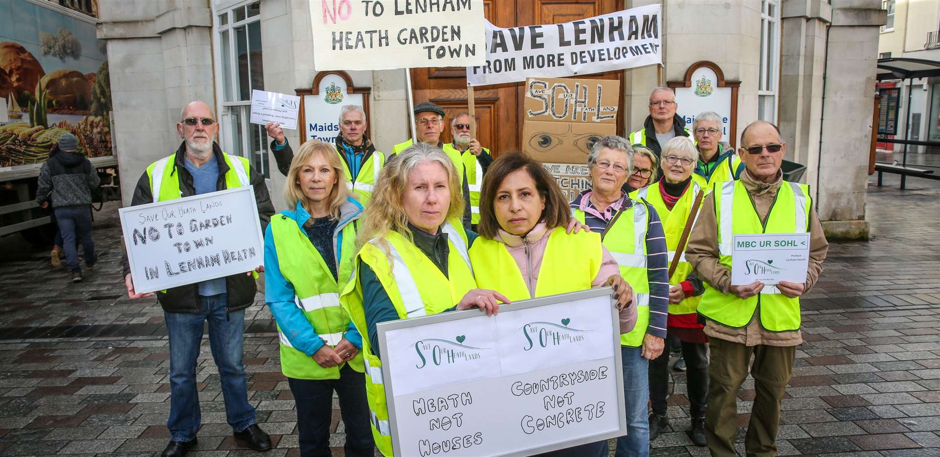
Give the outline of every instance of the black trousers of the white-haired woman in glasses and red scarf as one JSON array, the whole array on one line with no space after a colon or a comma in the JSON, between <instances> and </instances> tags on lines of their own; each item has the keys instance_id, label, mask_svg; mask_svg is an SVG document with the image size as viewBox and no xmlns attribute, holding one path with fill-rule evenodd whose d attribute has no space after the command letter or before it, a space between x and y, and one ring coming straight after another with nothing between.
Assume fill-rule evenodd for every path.
<instances>
[{"instance_id":1,"label":"black trousers of the white-haired woman in glasses and red scarf","mask_svg":"<svg viewBox=\"0 0 940 457\"><path fill-rule=\"evenodd\" d=\"M669 340L663 355L650 360L650 402L652 412L666 416L666 403L669 399ZM685 358L685 377L693 418L704 418L708 409L708 344L687 343L681 341L682 357Z\"/></svg>"}]
</instances>

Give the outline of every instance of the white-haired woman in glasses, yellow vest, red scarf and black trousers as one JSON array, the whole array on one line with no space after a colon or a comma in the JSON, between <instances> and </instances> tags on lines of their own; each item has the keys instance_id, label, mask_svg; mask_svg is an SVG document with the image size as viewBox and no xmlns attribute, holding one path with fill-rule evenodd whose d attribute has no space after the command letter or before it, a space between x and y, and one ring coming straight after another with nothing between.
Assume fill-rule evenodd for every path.
<instances>
[{"instance_id":1,"label":"white-haired woman in glasses, yellow vest, red scarf and black trousers","mask_svg":"<svg viewBox=\"0 0 940 457\"><path fill-rule=\"evenodd\" d=\"M701 280L685 261L685 240L691 232L707 191L705 179L693 174L698 150L692 139L682 136L666 142L663 148L663 179L630 194L646 200L659 214L666 233L668 263L674 270L669 277L668 332L682 341L682 356L688 376L688 397L692 416L689 438L697 446L705 446L705 409L708 404L708 337L697 322L696 309L704 292ZM688 230L686 230L688 226ZM677 254L678 252L678 254ZM678 257L678 260L675 260ZM675 263L675 266L673 266ZM650 362L650 437L666 426L666 395L669 386L669 339L663 355Z\"/></svg>"}]
</instances>

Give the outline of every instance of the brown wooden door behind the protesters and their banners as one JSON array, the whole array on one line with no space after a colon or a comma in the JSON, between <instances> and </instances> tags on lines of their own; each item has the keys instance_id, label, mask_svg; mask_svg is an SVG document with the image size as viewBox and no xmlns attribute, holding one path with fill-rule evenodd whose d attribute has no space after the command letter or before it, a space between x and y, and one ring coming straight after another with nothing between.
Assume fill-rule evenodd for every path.
<instances>
[{"instance_id":1,"label":"brown wooden door behind the protesters and their banners","mask_svg":"<svg viewBox=\"0 0 940 457\"><path fill-rule=\"evenodd\" d=\"M493 25L500 27L566 23L617 10L618 0L484 0L484 15ZM619 80L619 110L622 113L622 74L622 71L610 71L582 77ZM415 104L430 101L444 108L447 128L442 139L450 141L450 119L467 110L466 69L413 69L412 86ZM494 155L522 147L523 87L523 83L475 87L477 137L484 148L493 150ZM623 134L622 130L618 126L619 134Z\"/></svg>"}]
</instances>

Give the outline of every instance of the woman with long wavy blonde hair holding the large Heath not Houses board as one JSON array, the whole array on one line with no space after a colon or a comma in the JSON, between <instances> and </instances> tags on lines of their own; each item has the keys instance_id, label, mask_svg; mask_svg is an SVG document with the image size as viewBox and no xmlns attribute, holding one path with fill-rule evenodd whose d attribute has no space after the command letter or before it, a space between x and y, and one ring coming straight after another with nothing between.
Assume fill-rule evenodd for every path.
<instances>
[{"instance_id":1,"label":"woman with long wavy blonde hair holding the large Heath not Houses board","mask_svg":"<svg viewBox=\"0 0 940 457\"><path fill-rule=\"evenodd\" d=\"M468 250L477 234L463 228L463 196L453 162L417 143L379 176L359 228L356 273L341 303L363 339L372 436L392 455L376 324L479 307L488 315L509 300L477 289ZM394 273L393 273L394 272ZM373 377L373 375L375 377Z\"/></svg>"}]
</instances>

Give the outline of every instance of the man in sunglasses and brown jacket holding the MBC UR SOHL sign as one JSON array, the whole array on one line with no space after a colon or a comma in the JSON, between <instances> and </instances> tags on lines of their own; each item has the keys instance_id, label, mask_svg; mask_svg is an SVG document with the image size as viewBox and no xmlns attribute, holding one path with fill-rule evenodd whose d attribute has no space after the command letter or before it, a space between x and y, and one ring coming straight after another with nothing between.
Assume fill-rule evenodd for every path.
<instances>
[{"instance_id":1,"label":"man in sunglasses and brown jacket holding the MBC UR SOHL sign","mask_svg":"<svg viewBox=\"0 0 940 457\"><path fill-rule=\"evenodd\" d=\"M712 351L705 436L715 456L735 455L737 394L748 373L754 376L757 396L744 448L747 455L776 453L780 401L796 346L803 342L799 297L819 279L829 248L809 186L783 181L780 164L786 144L776 125L752 122L741 134L741 145L738 154L746 166L741 179L713 184L685 250L685 259L705 285L698 304ZM730 285L734 235L794 232L809 232L804 282Z\"/></svg>"}]
</instances>

